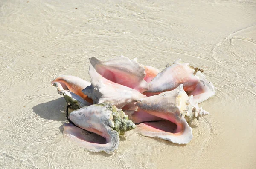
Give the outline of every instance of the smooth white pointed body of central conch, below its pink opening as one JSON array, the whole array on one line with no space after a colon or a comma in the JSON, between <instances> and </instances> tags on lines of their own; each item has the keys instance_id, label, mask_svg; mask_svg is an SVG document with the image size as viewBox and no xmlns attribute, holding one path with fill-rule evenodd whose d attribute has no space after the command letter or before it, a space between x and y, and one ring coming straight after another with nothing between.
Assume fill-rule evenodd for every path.
<instances>
[{"instance_id":1,"label":"smooth white pointed body of central conch, below its pink opening","mask_svg":"<svg viewBox=\"0 0 256 169\"><path fill-rule=\"evenodd\" d=\"M93 100L94 104L113 102L114 105L121 109L123 106L137 102L146 95L141 94L135 89L114 83L96 72L93 65L90 65L89 75L91 85L82 90L85 95Z\"/></svg>"}]
</instances>

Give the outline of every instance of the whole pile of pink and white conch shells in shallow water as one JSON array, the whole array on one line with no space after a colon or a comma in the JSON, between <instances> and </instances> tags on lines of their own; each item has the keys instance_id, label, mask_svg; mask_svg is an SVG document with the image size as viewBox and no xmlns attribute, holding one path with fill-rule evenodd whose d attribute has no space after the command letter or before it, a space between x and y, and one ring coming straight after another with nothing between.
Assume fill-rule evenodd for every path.
<instances>
[{"instance_id":1,"label":"whole pile of pink and white conch shells in shallow water","mask_svg":"<svg viewBox=\"0 0 256 169\"><path fill-rule=\"evenodd\" d=\"M203 70L181 59L160 72L137 59L90 58L87 82L61 75L52 81L70 105L64 136L92 152L114 152L119 135L137 127L141 135L177 144L192 140L189 126L209 113L198 103L215 94Z\"/></svg>"}]
</instances>

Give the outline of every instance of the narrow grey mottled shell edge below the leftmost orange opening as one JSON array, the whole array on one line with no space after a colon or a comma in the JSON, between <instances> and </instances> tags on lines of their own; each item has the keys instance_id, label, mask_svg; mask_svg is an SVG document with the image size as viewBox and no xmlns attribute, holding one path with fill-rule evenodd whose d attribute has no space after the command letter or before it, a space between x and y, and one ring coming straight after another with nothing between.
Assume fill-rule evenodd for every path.
<instances>
[{"instance_id":1,"label":"narrow grey mottled shell edge below the leftmost orange opening","mask_svg":"<svg viewBox=\"0 0 256 169\"><path fill-rule=\"evenodd\" d=\"M73 92L70 92L69 90L64 90L60 83L55 82L52 86L57 87L57 92L60 95L63 95L67 104L71 104L71 108L73 110L80 109L84 106L90 106L91 103L84 100L79 95L76 95Z\"/></svg>"}]
</instances>

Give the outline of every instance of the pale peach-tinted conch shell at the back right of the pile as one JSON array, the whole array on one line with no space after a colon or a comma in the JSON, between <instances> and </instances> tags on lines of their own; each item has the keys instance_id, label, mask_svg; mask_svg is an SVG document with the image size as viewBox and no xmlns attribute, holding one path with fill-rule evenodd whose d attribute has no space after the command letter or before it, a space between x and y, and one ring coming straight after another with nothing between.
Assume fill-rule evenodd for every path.
<instances>
[{"instance_id":1,"label":"pale peach-tinted conch shell at the back right of the pile","mask_svg":"<svg viewBox=\"0 0 256 169\"><path fill-rule=\"evenodd\" d=\"M173 90L180 84L183 84L184 90L188 95L194 95L194 100L201 103L215 94L215 88L211 82L206 80L200 70L178 59L170 66L167 65L166 69L154 77L149 83L147 93L158 94ZM146 95L149 96L148 94Z\"/></svg>"}]
</instances>

